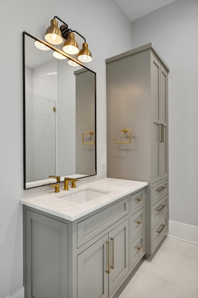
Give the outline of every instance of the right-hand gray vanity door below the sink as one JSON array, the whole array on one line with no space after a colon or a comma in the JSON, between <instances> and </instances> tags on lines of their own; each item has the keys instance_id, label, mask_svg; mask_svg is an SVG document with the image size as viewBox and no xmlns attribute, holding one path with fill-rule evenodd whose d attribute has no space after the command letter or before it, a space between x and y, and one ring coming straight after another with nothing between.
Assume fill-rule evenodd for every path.
<instances>
[{"instance_id":1,"label":"right-hand gray vanity door below the sink","mask_svg":"<svg viewBox=\"0 0 198 298\"><path fill-rule=\"evenodd\" d=\"M129 271L129 222L125 220L109 233L109 296Z\"/></svg>"}]
</instances>

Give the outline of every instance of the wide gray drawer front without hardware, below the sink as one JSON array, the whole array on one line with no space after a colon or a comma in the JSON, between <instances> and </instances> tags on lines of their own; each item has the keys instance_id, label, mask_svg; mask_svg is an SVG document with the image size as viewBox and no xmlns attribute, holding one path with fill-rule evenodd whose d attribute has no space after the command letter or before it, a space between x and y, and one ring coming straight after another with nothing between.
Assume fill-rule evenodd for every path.
<instances>
[{"instance_id":1,"label":"wide gray drawer front without hardware, below the sink","mask_svg":"<svg viewBox=\"0 0 198 298\"><path fill-rule=\"evenodd\" d=\"M77 248L129 213L129 198L82 220L77 224Z\"/></svg>"}]
</instances>

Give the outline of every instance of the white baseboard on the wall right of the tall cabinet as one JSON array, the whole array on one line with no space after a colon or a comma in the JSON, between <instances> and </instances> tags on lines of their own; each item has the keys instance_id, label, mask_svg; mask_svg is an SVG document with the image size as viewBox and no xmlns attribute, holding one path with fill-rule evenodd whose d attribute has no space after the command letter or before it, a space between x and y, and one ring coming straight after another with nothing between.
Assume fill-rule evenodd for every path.
<instances>
[{"instance_id":1,"label":"white baseboard on the wall right of the tall cabinet","mask_svg":"<svg viewBox=\"0 0 198 298\"><path fill-rule=\"evenodd\" d=\"M198 227L169 220L168 237L198 245Z\"/></svg>"}]
</instances>

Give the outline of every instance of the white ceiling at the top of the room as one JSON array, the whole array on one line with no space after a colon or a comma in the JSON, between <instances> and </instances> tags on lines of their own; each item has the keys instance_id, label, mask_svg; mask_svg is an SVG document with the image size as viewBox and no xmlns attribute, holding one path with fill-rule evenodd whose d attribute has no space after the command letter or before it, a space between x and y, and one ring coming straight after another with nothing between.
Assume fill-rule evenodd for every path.
<instances>
[{"instance_id":1,"label":"white ceiling at the top of the room","mask_svg":"<svg viewBox=\"0 0 198 298\"><path fill-rule=\"evenodd\" d=\"M115 0L131 22L174 1L175 0Z\"/></svg>"}]
</instances>

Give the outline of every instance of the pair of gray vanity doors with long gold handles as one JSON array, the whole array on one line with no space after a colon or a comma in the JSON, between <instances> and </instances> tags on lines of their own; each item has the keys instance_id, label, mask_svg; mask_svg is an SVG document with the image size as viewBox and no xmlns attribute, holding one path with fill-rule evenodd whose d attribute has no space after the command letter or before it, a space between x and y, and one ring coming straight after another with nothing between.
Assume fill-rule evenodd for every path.
<instances>
[{"instance_id":1,"label":"pair of gray vanity doors with long gold handles","mask_svg":"<svg viewBox=\"0 0 198 298\"><path fill-rule=\"evenodd\" d=\"M128 230L127 219L78 255L78 298L108 297L127 274Z\"/></svg>"}]
</instances>

